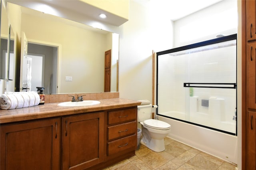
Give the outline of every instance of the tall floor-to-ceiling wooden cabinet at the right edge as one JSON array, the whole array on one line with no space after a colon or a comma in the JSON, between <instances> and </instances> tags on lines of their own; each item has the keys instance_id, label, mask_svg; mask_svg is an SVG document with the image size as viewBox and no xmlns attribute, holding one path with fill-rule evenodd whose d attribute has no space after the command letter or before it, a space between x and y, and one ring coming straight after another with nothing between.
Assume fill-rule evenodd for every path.
<instances>
[{"instance_id":1,"label":"tall floor-to-ceiling wooden cabinet at the right edge","mask_svg":"<svg viewBox=\"0 0 256 170\"><path fill-rule=\"evenodd\" d=\"M245 169L256 167L256 1L246 0L244 12L246 20L246 35L243 40L246 47L246 129ZM244 4L243 4L244 6Z\"/></svg>"}]
</instances>

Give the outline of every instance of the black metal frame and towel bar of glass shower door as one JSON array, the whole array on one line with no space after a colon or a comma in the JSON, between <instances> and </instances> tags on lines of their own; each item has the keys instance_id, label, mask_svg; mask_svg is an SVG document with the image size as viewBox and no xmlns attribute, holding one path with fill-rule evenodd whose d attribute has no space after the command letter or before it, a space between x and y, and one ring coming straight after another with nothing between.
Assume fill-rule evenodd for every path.
<instances>
[{"instance_id":1,"label":"black metal frame and towel bar of glass shower door","mask_svg":"<svg viewBox=\"0 0 256 170\"><path fill-rule=\"evenodd\" d=\"M183 50L187 50L187 49L193 49L193 48L196 48L196 47L202 47L202 46L206 46L206 45L212 45L212 44L215 44L215 43L227 42L227 41L231 41L231 40L237 40L237 34L232 34L230 36L224 36L224 37L215 38L215 39L212 39L212 40L207 40L207 41L204 41L204 42L194 43L194 44L185 45L185 46L182 46L182 47L177 47L177 48L157 52L156 53L156 105L158 105L158 56L159 55L174 53L174 52L183 51ZM237 41L236 41L236 44L237 44ZM237 45L236 45L236 71L237 71ZM190 84L197 84L197 85L198 84L201 84L201 85L202 84L206 84L206 85L207 84L208 85L221 85L221 84L222 85L233 85L233 87L228 87L228 88L236 89L236 115L235 115L236 116L236 133L227 132L227 131L220 130L220 129L213 128L213 127L207 127L207 126L204 126L204 125L200 125L200 124L197 124L197 123L177 119L177 118L174 118L174 117L168 117L166 115L161 115L161 114L158 113L158 108L156 108L156 115L159 115L159 116L162 116L162 117L167 117L167 118L174 119L174 120L177 120L177 121L181 121L181 122L189 123L189 124L192 124L192 125L196 125L196 126L200 126L200 127L208 128L208 129L211 129L211 130L216 130L216 131L219 131L219 132L224 132L224 133L227 133L227 134L237 136L237 88L236 88L237 73L236 73L236 83L184 83L184 87L204 88L204 86L200 86L200 85L199 86L190 86ZM208 88L227 88L227 87L209 86Z\"/></svg>"}]
</instances>

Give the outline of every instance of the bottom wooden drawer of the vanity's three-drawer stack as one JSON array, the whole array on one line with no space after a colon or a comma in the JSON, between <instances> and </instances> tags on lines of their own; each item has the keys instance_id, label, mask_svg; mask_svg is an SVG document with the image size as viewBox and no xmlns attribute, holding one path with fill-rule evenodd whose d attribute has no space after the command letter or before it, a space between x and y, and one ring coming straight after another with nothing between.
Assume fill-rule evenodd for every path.
<instances>
[{"instance_id":1,"label":"bottom wooden drawer of the vanity's three-drawer stack","mask_svg":"<svg viewBox=\"0 0 256 170\"><path fill-rule=\"evenodd\" d=\"M108 142L108 156L135 150L137 145L136 134Z\"/></svg>"}]
</instances>

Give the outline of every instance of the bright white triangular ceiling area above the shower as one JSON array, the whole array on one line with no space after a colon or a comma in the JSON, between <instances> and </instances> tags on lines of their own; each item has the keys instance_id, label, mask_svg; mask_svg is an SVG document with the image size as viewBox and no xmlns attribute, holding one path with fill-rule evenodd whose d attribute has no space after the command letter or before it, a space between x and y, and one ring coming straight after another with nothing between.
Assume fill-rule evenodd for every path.
<instances>
[{"instance_id":1,"label":"bright white triangular ceiling area above the shower","mask_svg":"<svg viewBox=\"0 0 256 170\"><path fill-rule=\"evenodd\" d=\"M148 0L154 8L176 21L222 0Z\"/></svg>"}]
</instances>

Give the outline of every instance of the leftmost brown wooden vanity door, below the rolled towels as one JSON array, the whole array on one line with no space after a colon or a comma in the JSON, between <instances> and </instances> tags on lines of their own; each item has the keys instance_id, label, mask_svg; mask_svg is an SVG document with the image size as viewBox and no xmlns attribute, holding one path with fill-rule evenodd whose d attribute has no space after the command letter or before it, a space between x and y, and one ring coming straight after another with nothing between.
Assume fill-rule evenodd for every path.
<instances>
[{"instance_id":1,"label":"leftmost brown wooden vanity door, below the rolled towels","mask_svg":"<svg viewBox=\"0 0 256 170\"><path fill-rule=\"evenodd\" d=\"M60 119L1 125L1 170L60 170Z\"/></svg>"}]
</instances>

